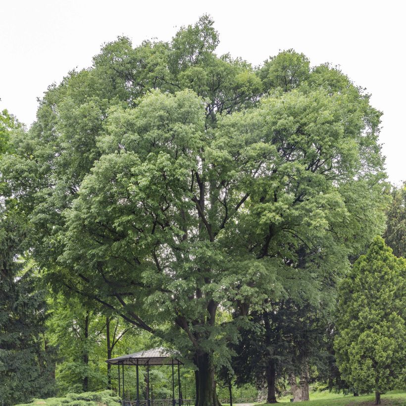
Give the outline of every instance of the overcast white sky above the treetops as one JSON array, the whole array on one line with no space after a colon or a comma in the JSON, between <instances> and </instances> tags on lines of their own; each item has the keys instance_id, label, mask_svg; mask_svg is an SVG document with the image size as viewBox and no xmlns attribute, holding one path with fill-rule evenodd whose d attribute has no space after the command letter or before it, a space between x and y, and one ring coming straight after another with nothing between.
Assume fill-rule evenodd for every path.
<instances>
[{"instance_id":1,"label":"overcast white sky above the treetops","mask_svg":"<svg viewBox=\"0 0 406 406\"><path fill-rule=\"evenodd\" d=\"M35 120L37 97L72 68L88 67L104 42L170 40L203 13L220 33L218 53L254 65L279 50L331 62L372 94L384 112L380 141L392 183L406 180L404 1L3 0L0 108Z\"/></svg>"}]
</instances>

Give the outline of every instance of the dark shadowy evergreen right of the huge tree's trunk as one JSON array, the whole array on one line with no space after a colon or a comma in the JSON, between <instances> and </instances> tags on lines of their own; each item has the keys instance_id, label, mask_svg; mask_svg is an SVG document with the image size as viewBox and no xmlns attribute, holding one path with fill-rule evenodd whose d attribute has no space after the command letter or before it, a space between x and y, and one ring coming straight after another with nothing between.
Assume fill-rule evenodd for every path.
<instances>
[{"instance_id":1,"label":"dark shadowy evergreen right of the huge tree's trunk","mask_svg":"<svg viewBox=\"0 0 406 406\"><path fill-rule=\"evenodd\" d=\"M308 400L309 369L326 367L327 314L327 309L298 304L292 298L252 312L251 325L233 347L237 383L267 388L266 403L276 403L278 387L289 382L296 401Z\"/></svg>"}]
</instances>

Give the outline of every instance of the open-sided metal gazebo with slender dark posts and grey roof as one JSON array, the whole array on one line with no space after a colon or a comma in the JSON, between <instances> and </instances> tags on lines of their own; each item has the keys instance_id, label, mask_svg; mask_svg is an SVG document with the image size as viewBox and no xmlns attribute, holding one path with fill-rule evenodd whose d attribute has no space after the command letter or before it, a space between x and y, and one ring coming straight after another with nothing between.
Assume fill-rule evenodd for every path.
<instances>
[{"instance_id":1,"label":"open-sided metal gazebo with slender dark posts and grey roof","mask_svg":"<svg viewBox=\"0 0 406 406\"><path fill-rule=\"evenodd\" d=\"M106 360L107 363L112 365L118 365L118 395L121 397L123 394L123 406L136 405L136 406L151 406L150 399L150 366L154 365L172 365L172 406L176 406L178 403L179 406L182 405L182 395L180 387L180 370L179 366L183 365L179 359L175 358L170 352L165 348L155 348L148 351L140 351L135 354L121 355L116 358L110 358ZM120 368L121 365L121 368ZM131 400L125 400L124 398L124 365L131 365L136 367L136 376L137 376L137 400L135 402ZM174 366L178 366L178 402L175 399L175 382L174 382ZM140 383L139 383L139 374L138 367L144 366L147 367L147 399L140 402ZM121 374L120 374L121 369ZM121 377L120 377L121 375ZM121 391L122 384L122 391Z\"/></svg>"}]
</instances>

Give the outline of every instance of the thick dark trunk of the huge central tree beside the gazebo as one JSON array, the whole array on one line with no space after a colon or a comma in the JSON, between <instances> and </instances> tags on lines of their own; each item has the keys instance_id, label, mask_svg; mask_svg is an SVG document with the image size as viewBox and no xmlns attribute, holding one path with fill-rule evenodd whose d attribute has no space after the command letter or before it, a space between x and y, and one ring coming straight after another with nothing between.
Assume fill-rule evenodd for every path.
<instances>
[{"instance_id":1,"label":"thick dark trunk of the huge central tree beside the gazebo","mask_svg":"<svg viewBox=\"0 0 406 406\"><path fill-rule=\"evenodd\" d=\"M198 386L196 388L198 398L196 405L218 406L219 402L214 381L214 365L210 355L198 352L195 355L195 364L198 367Z\"/></svg>"}]
</instances>

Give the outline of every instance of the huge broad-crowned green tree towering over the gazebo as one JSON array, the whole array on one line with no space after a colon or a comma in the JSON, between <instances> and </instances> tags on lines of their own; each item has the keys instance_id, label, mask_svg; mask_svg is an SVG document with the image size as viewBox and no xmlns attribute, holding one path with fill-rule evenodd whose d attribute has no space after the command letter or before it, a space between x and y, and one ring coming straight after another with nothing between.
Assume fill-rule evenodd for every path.
<instances>
[{"instance_id":1,"label":"huge broad-crowned green tree towering over the gazebo","mask_svg":"<svg viewBox=\"0 0 406 406\"><path fill-rule=\"evenodd\" d=\"M254 70L217 44L207 16L170 43L106 44L1 159L53 286L176 345L200 406L250 309L317 304L385 203L368 95L292 50Z\"/></svg>"}]
</instances>

